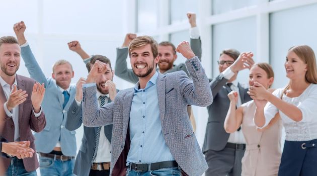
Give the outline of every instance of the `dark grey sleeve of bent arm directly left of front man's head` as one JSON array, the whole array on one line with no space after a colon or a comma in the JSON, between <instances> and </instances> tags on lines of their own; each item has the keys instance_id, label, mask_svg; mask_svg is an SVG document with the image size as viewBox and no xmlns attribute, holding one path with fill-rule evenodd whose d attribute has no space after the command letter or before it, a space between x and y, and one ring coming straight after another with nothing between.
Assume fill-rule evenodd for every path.
<instances>
[{"instance_id":1,"label":"dark grey sleeve of bent arm directly left of front man's head","mask_svg":"<svg viewBox=\"0 0 317 176\"><path fill-rule=\"evenodd\" d=\"M132 69L127 67L128 48L117 48L117 60L115 65L115 75L129 81L136 83L139 78L134 74Z\"/></svg>"}]
</instances>

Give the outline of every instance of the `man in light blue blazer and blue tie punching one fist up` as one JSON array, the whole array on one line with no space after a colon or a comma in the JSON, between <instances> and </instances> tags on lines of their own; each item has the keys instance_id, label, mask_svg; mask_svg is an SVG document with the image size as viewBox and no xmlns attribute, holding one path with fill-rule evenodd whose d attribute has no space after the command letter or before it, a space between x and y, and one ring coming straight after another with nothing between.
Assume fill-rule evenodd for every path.
<instances>
[{"instance_id":1,"label":"man in light blue blazer and blue tie punching one fist up","mask_svg":"<svg viewBox=\"0 0 317 176\"><path fill-rule=\"evenodd\" d=\"M76 138L75 131L67 130L65 123L68 108L76 93L76 85L70 84L74 72L68 61L58 60L53 65L52 77L46 78L25 39L25 30L24 22L14 25L25 66L31 77L44 83L47 90L43 101L47 125L41 133L35 134L40 172L41 175L72 175Z\"/></svg>"}]
</instances>

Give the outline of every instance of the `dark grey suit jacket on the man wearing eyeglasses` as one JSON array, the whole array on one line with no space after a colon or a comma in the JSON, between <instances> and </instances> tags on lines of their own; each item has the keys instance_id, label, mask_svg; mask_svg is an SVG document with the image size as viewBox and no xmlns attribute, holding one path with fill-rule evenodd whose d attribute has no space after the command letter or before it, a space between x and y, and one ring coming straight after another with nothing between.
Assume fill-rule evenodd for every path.
<instances>
[{"instance_id":1,"label":"dark grey suit jacket on the man wearing eyeglasses","mask_svg":"<svg viewBox=\"0 0 317 176\"><path fill-rule=\"evenodd\" d=\"M228 79L225 79L222 74L219 74L210 82L213 103L207 107L209 117L202 148L203 153L207 150L220 151L225 147L228 141L229 133L226 133L223 128L224 119L230 104L227 95L231 90L226 84L227 81ZM238 83L238 87L242 104L252 100L247 94L248 89L242 87L240 83Z\"/></svg>"}]
</instances>

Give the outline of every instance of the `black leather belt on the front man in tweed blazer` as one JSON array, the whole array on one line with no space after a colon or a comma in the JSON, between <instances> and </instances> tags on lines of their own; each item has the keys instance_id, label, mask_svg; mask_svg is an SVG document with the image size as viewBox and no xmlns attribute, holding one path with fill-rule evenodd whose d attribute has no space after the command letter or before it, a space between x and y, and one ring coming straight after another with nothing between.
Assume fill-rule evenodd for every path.
<instances>
[{"instance_id":1,"label":"black leather belt on the front man in tweed blazer","mask_svg":"<svg viewBox=\"0 0 317 176\"><path fill-rule=\"evenodd\" d=\"M160 168L171 168L178 167L178 163L176 161L162 161L162 162L154 162L150 164L136 164L130 162L128 168L135 171L148 171L148 170L158 170Z\"/></svg>"}]
</instances>

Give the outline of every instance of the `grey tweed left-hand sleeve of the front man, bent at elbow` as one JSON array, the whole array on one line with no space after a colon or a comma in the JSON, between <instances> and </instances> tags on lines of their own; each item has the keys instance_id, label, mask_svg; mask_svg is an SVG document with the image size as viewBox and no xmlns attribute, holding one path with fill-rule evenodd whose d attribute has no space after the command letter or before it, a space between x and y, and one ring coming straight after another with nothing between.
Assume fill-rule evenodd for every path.
<instances>
[{"instance_id":1,"label":"grey tweed left-hand sleeve of the front man, bent at elbow","mask_svg":"<svg viewBox=\"0 0 317 176\"><path fill-rule=\"evenodd\" d=\"M99 107L96 90L96 83L88 83L83 86L83 123L87 127L99 127L113 123L114 103Z\"/></svg>"}]
</instances>

